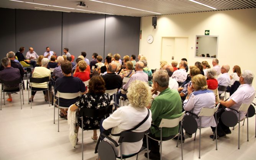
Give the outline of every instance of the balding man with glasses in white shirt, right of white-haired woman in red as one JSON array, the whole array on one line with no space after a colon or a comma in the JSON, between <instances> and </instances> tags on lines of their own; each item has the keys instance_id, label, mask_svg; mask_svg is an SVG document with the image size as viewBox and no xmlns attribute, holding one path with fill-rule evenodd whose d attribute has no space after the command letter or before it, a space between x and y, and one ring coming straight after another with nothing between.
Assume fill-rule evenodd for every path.
<instances>
[{"instance_id":1,"label":"balding man with glasses in white shirt, right of white-haired woman in red","mask_svg":"<svg viewBox=\"0 0 256 160\"><path fill-rule=\"evenodd\" d=\"M230 83L230 76L228 75L228 71L230 69L230 67L228 65L223 65L221 68L221 73L222 75L220 77L217 78L218 80L218 85L221 86L228 86ZM219 91L219 94L224 93L224 91Z\"/></svg>"}]
</instances>

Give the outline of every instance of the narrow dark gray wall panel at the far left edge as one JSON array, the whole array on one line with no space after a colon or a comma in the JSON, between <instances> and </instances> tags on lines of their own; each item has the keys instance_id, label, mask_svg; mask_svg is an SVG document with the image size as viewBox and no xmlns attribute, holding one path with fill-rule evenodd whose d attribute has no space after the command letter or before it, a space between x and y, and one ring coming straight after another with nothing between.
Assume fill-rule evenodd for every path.
<instances>
[{"instance_id":1,"label":"narrow dark gray wall panel at the far left edge","mask_svg":"<svg viewBox=\"0 0 256 160\"><path fill-rule=\"evenodd\" d=\"M0 9L0 48L1 59L6 57L9 51L16 51L15 48L15 10Z\"/></svg>"}]
</instances>

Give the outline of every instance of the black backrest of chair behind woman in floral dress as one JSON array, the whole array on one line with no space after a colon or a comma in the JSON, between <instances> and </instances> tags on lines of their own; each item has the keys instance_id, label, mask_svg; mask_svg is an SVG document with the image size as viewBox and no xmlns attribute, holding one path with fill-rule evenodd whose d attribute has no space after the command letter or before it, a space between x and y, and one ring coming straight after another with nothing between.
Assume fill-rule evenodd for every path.
<instances>
[{"instance_id":1,"label":"black backrest of chair behind woman in floral dress","mask_svg":"<svg viewBox=\"0 0 256 160\"><path fill-rule=\"evenodd\" d=\"M92 118L98 118L103 117L104 115L112 113L113 104L104 107L102 109L90 109L90 108L81 108L79 115L80 117L86 116L86 117L92 117Z\"/></svg>"}]
</instances>

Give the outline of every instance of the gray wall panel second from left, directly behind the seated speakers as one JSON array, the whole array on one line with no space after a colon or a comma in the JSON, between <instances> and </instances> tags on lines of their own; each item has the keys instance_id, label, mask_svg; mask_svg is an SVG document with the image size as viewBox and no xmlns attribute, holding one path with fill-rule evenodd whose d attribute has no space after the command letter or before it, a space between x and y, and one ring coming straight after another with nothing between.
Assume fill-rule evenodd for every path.
<instances>
[{"instance_id":1,"label":"gray wall panel second from left, directly behind the seated speakers","mask_svg":"<svg viewBox=\"0 0 256 160\"><path fill-rule=\"evenodd\" d=\"M43 55L46 46L61 55L61 18L56 11L16 10L16 49L25 47L26 56L31 46Z\"/></svg>"}]
</instances>

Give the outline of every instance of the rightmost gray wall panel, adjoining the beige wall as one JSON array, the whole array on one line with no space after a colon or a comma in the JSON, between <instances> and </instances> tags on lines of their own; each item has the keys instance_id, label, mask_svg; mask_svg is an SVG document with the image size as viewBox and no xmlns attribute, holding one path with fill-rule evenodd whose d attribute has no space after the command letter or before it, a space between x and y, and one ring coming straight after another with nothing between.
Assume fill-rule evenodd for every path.
<instances>
[{"instance_id":1,"label":"rightmost gray wall panel, adjoining the beige wall","mask_svg":"<svg viewBox=\"0 0 256 160\"><path fill-rule=\"evenodd\" d=\"M105 56L119 53L123 56L139 53L139 17L106 16Z\"/></svg>"}]
</instances>

